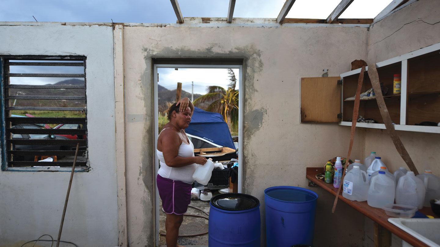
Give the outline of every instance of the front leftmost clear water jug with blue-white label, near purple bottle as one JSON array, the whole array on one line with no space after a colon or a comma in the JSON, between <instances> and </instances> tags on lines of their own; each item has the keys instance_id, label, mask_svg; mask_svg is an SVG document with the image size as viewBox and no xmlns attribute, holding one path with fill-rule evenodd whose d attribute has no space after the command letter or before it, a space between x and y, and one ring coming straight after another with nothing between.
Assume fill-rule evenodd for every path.
<instances>
[{"instance_id":1,"label":"front leftmost clear water jug with blue-white label, near purple bottle","mask_svg":"<svg viewBox=\"0 0 440 247\"><path fill-rule=\"evenodd\" d=\"M344 177L344 191L342 196L352 201L363 202L367 200L368 193L368 175L367 172L359 169L359 166L354 165Z\"/></svg>"}]
</instances>

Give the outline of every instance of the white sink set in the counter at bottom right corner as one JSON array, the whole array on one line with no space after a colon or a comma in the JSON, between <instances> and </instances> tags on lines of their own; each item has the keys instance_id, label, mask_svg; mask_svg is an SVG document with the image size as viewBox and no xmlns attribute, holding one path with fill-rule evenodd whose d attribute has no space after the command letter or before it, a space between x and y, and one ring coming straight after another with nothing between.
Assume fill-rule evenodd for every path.
<instances>
[{"instance_id":1,"label":"white sink set in the counter at bottom right corner","mask_svg":"<svg viewBox=\"0 0 440 247\"><path fill-rule=\"evenodd\" d=\"M431 247L440 247L440 218L388 218L388 221ZM411 246L403 241L402 246Z\"/></svg>"}]
</instances>

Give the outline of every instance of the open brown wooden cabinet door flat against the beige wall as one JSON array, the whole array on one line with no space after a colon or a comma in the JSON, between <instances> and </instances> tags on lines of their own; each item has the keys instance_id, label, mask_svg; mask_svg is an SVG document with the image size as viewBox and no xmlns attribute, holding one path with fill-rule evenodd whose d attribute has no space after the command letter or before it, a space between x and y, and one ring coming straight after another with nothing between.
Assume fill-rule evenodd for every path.
<instances>
[{"instance_id":1,"label":"open brown wooden cabinet door flat against the beige wall","mask_svg":"<svg viewBox=\"0 0 440 247\"><path fill-rule=\"evenodd\" d=\"M341 77L301 78L301 123L341 121Z\"/></svg>"}]
</instances>

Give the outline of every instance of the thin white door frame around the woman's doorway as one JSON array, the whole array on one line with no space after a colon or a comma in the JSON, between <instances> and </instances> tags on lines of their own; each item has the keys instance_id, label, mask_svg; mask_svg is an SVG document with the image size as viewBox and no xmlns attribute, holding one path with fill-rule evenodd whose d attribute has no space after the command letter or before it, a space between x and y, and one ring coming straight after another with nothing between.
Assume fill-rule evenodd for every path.
<instances>
[{"instance_id":1,"label":"thin white door frame around the woman's doorway","mask_svg":"<svg viewBox=\"0 0 440 247\"><path fill-rule=\"evenodd\" d=\"M156 186L156 174L159 170L159 160L156 157L158 145L158 68L179 68L179 69L238 69L238 193L242 193L242 158L243 157L243 65L183 65L183 64L155 64L154 65L154 217L156 229L156 246L159 246L159 193Z\"/></svg>"}]
</instances>

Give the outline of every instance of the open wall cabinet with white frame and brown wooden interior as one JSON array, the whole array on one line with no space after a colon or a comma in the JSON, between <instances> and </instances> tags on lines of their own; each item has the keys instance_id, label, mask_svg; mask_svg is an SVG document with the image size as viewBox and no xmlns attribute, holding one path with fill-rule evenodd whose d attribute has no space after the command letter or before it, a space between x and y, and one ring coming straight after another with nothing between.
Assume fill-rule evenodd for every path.
<instances>
[{"instance_id":1,"label":"open wall cabinet with white frame and brown wooden interior","mask_svg":"<svg viewBox=\"0 0 440 247\"><path fill-rule=\"evenodd\" d=\"M378 62L376 66L379 81L388 88L384 94L384 100L391 120L396 124L395 129L440 133L439 126L416 125L422 122L440 122L440 43ZM366 71L368 71L368 67ZM323 112L331 112L334 115L334 110L340 109L341 113L338 116L340 118L337 122L339 125L351 126L352 122L349 120L352 118L354 106L354 99L351 98L356 94L359 73L360 69L355 69L342 73L340 78L327 77L333 78L330 81L329 79L320 79L326 77L301 78L301 122L336 122L334 118L321 120L314 116ZM401 74L400 94L393 94L394 74ZM310 86L310 80L322 80L325 87ZM371 87L370 78L366 72L361 93ZM339 89L341 90L341 102L332 105L327 102L314 108L311 105L313 101L306 96L310 95L308 91L311 89L324 90L322 93L314 93L323 96L326 91ZM316 98L315 105L318 105L317 101L319 98ZM361 99L359 116L363 116L365 119L374 119L377 123L356 123L356 127L385 129L376 98ZM315 121L316 119L319 121Z\"/></svg>"}]
</instances>

